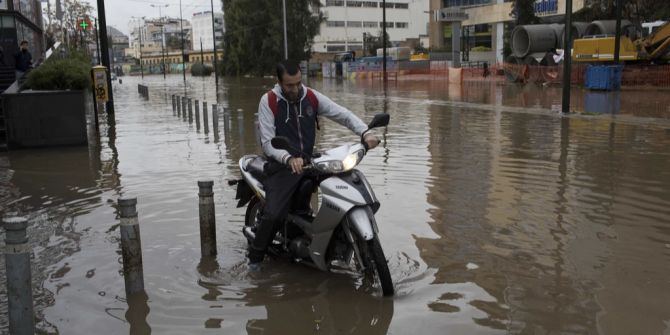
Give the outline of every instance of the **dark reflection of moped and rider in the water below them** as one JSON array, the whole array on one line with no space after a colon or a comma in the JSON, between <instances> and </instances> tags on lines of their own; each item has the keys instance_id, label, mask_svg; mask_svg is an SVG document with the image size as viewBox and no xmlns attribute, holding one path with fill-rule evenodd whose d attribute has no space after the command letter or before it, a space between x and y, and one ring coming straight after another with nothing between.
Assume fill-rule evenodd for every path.
<instances>
[{"instance_id":1,"label":"dark reflection of moped and rider in the water below them","mask_svg":"<svg viewBox=\"0 0 670 335\"><path fill-rule=\"evenodd\" d=\"M248 334L386 334L393 300L352 292L350 283L329 275L306 282L267 280L247 289L248 306L264 306L265 319L247 322Z\"/></svg>"}]
</instances>

